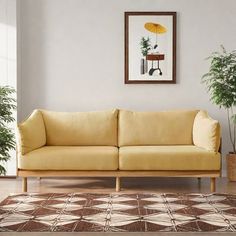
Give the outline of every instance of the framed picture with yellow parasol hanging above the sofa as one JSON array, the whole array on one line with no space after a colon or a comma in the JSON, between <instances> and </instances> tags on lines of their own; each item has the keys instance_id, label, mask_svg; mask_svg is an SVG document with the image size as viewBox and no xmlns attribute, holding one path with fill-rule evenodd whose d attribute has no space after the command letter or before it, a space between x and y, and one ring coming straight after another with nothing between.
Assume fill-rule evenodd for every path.
<instances>
[{"instance_id":1,"label":"framed picture with yellow parasol hanging above the sofa","mask_svg":"<svg viewBox=\"0 0 236 236\"><path fill-rule=\"evenodd\" d=\"M125 83L176 83L176 12L125 12Z\"/></svg>"}]
</instances>

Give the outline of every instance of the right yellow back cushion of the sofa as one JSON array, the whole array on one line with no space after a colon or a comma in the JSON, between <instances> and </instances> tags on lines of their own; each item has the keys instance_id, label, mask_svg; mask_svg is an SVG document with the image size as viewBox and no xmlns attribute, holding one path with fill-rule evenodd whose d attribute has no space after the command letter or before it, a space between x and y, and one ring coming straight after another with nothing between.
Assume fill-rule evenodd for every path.
<instances>
[{"instance_id":1,"label":"right yellow back cushion of the sofa","mask_svg":"<svg viewBox=\"0 0 236 236\"><path fill-rule=\"evenodd\" d=\"M119 113L119 146L192 145L197 110Z\"/></svg>"}]
</instances>

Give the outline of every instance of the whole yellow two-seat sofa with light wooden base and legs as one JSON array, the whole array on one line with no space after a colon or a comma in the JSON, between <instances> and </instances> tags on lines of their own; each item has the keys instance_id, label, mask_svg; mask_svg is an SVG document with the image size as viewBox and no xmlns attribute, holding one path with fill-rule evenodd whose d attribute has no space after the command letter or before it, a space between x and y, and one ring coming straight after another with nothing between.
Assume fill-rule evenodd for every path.
<instances>
[{"instance_id":1,"label":"whole yellow two-seat sofa with light wooden base and legs","mask_svg":"<svg viewBox=\"0 0 236 236\"><path fill-rule=\"evenodd\" d=\"M210 177L221 174L220 125L199 110L53 112L18 125L18 176Z\"/></svg>"}]
</instances>

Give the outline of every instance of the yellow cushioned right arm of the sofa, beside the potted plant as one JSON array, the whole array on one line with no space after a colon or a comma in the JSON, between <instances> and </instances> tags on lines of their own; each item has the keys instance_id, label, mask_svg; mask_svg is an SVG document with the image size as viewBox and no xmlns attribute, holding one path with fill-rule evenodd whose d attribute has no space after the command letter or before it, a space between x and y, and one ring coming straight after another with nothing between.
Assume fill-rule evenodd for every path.
<instances>
[{"instance_id":1,"label":"yellow cushioned right arm of the sofa, beside the potted plant","mask_svg":"<svg viewBox=\"0 0 236 236\"><path fill-rule=\"evenodd\" d=\"M220 124L199 111L193 123L193 144L208 151L218 152L220 147Z\"/></svg>"}]
</instances>

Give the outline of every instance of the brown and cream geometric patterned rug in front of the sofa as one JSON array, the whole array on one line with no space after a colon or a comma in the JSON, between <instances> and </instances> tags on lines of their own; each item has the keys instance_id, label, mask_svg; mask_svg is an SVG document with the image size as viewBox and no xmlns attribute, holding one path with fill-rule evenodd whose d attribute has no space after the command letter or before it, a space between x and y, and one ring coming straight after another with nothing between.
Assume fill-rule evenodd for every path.
<instances>
[{"instance_id":1,"label":"brown and cream geometric patterned rug in front of the sofa","mask_svg":"<svg viewBox=\"0 0 236 236\"><path fill-rule=\"evenodd\" d=\"M1 232L235 232L236 195L12 195L0 203Z\"/></svg>"}]
</instances>

